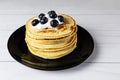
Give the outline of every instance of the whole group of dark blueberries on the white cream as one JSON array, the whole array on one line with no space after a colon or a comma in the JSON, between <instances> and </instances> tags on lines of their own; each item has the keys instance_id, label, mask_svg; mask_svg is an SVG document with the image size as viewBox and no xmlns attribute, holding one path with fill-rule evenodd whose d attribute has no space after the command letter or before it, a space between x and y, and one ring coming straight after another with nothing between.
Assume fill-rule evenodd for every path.
<instances>
[{"instance_id":1,"label":"whole group of dark blueberries on the white cream","mask_svg":"<svg viewBox=\"0 0 120 80\"><path fill-rule=\"evenodd\" d=\"M64 22L63 16L57 15L56 12L53 10L49 11L47 14L49 15L49 18L51 18L50 25L52 27L57 27L59 25L59 22ZM44 13L41 13L38 17L40 20L34 19L32 21L33 26L36 26L38 23L46 24L48 22L48 18L45 16ZM58 18L59 21L57 21L55 18Z\"/></svg>"}]
</instances>

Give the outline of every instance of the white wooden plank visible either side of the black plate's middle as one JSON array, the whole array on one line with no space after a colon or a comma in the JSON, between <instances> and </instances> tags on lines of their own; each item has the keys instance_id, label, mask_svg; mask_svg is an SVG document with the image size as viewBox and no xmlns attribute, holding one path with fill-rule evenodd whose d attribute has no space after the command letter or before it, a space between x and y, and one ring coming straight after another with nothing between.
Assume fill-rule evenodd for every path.
<instances>
[{"instance_id":1,"label":"white wooden plank visible either side of the black plate's middle","mask_svg":"<svg viewBox=\"0 0 120 80\"><path fill-rule=\"evenodd\" d=\"M87 62L120 62L120 37L116 37L116 35L107 35L106 32L102 30L100 33L99 32L100 31L96 31L93 35L95 40L95 49ZM12 31L0 31L0 33L3 33L0 34L0 60L11 61L13 59L10 57L7 50L7 40ZM105 33L106 35L101 33Z\"/></svg>"}]
</instances>

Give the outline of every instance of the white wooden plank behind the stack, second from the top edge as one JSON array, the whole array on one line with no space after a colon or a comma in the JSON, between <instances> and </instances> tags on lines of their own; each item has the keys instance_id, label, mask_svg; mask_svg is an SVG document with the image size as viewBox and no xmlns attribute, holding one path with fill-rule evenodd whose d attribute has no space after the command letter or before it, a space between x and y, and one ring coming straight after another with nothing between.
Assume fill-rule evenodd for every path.
<instances>
[{"instance_id":1,"label":"white wooden plank behind the stack, second from the top edge","mask_svg":"<svg viewBox=\"0 0 120 80\"><path fill-rule=\"evenodd\" d=\"M38 15L38 14L35 14ZM23 25L26 21L35 15L0 15L0 30L13 30L16 26ZM82 15L70 14L77 22L77 24L94 30L118 30L120 15ZM12 26L13 25L13 26ZM4 26L4 27L2 27ZM6 26L6 27L5 27ZM9 28L11 26L11 28ZM94 28L91 28L94 27ZM119 29L120 30L120 29Z\"/></svg>"}]
</instances>

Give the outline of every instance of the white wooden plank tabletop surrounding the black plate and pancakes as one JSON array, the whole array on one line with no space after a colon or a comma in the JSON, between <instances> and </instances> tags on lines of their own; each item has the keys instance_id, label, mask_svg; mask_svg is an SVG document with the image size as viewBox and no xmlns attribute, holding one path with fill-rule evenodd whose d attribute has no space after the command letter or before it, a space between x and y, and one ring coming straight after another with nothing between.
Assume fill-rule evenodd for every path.
<instances>
[{"instance_id":1,"label":"white wooden plank tabletop surrounding the black plate and pancakes","mask_svg":"<svg viewBox=\"0 0 120 80\"><path fill-rule=\"evenodd\" d=\"M15 61L7 40L41 12L71 15L95 40L93 54L62 71L41 71ZM120 0L0 0L0 80L120 80Z\"/></svg>"}]
</instances>

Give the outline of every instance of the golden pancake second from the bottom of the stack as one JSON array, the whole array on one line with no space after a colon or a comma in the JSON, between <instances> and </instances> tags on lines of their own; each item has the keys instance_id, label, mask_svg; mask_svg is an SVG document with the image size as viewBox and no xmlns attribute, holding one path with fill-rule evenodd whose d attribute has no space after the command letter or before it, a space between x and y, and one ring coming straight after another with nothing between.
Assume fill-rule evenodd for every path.
<instances>
[{"instance_id":1,"label":"golden pancake second from the bottom of the stack","mask_svg":"<svg viewBox=\"0 0 120 80\"><path fill-rule=\"evenodd\" d=\"M44 44L37 44L33 43L32 41L27 42L29 46L35 47L41 51L57 51L57 50L63 50L67 47L71 46L72 44L76 43L76 36L72 37L69 41L66 43L61 44L54 44L54 45L44 45Z\"/></svg>"}]
</instances>

